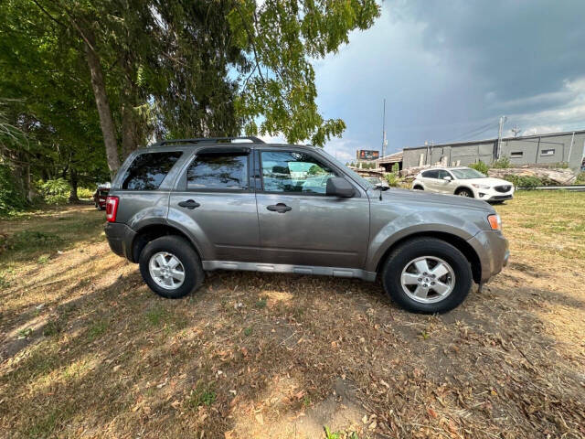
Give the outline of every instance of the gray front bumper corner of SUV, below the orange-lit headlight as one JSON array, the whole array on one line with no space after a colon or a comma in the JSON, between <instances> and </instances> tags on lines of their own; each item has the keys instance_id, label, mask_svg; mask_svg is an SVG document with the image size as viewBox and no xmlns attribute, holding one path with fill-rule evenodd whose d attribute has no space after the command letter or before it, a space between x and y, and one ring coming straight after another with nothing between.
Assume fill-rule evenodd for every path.
<instances>
[{"instance_id":1,"label":"gray front bumper corner of SUV, below the orange-lit headlight","mask_svg":"<svg viewBox=\"0 0 585 439\"><path fill-rule=\"evenodd\" d=\"M482 267L481 283L484 284L495 274L500 273L510 258L508 241L501 231L484 230L469 241L479 256Z\"/></svg>"}]
</instances>

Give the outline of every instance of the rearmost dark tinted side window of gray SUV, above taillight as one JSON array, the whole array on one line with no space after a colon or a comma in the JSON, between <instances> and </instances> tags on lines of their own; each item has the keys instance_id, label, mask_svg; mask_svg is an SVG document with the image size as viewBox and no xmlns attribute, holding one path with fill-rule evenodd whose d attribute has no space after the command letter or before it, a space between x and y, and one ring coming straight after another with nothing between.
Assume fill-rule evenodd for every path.
<instances>
[{"instance_id":1,"label":"rearmost dark tinted side window of gray SUV, above taillight","mask_svg":"<svg viewBox=\"0 0 585 439\"><path fill-rule=\"evenodd\" d=\"M134 158L122 178L122 189L156 190L183 153L144 153Z\"/></svg>"}]
</instances>

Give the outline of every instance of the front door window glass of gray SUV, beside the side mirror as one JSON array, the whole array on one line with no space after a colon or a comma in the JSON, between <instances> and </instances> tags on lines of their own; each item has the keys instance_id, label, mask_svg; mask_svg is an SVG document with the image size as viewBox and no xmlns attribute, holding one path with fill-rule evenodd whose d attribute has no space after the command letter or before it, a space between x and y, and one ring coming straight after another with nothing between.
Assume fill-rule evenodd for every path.
<instances>
[{"instance_id":1,"label":"front door window glass of gray SUV, beside the side mirror","mask_svg":"<svg viewBox=\"0 0 585 439\"><path fill-rule=\"evenodd\" d=\"M325 194L327 180L335 177L329 166L311 155L293 151L261 153L264 190Z\"/></svg>"}]
</instances>

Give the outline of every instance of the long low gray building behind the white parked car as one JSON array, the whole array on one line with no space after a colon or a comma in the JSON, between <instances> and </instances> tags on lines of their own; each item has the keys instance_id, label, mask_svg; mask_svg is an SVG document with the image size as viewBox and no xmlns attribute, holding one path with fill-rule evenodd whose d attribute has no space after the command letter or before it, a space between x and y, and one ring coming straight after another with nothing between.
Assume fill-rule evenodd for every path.
<instances>
[{"instance_id":1,"label":"long low gray building behind the white parked car","mask_svg":"<svg viewBox=\"0 0 585 439\"><path fill-rule=\"evenodd\" d=\"M498 157L507 157L512 166L568 163L580 169L585 151L585 130L506 137L452 144L404 148L403 167L434 165L467 166L481 160L490 165Z\"/></svg>"}]
</instances>

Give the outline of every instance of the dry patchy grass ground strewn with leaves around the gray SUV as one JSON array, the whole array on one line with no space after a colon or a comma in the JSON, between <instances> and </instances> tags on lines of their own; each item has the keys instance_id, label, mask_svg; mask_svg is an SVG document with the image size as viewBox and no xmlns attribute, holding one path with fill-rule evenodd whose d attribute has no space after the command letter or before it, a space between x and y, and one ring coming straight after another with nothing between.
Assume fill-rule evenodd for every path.
<instances>
[{"instance_id":1,"label":"dry patchy grass ground strewn with leaves around the gray SUV","mask_svg":"<svg viewBox=\"0 0 585 439\"><path fill-rule=\"evenodd\" d=\"M103 212L0 221L0 436L584 437L585 193L496 209L510 265L442 316L268 273L160 299Z\"/></svg>"}]
</instances>

